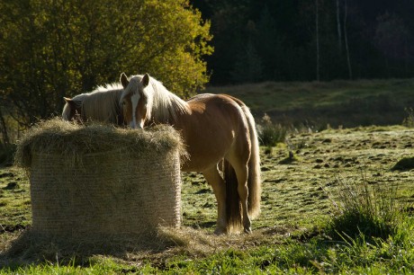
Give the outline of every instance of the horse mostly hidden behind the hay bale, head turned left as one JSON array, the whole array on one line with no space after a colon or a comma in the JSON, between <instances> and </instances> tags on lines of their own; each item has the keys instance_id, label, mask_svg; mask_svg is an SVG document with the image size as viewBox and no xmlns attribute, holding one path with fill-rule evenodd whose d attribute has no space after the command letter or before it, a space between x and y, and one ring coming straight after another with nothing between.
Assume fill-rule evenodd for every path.
<instances>
[{"instance_id":1,"label":"horse mostly hidden behind the hay bale, head turned left","mask_svg":"<svg viewBox=\"0 0 414 275\"><path fill-rule=\"evenodd\" d=\"M64 97L63 120L94 120L123 125L119 105L123 87L121 84L98 86L91 93L77 94L73 98Z\"/></svg>"}]
</instances>

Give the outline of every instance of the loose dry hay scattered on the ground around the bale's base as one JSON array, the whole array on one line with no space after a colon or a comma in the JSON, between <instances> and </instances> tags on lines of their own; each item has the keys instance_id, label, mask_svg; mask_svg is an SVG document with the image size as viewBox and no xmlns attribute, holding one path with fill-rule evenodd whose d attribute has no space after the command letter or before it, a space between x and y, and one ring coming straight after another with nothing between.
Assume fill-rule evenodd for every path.
<instances>
[{"instance_id":1,"label":"loose dry hay scattered on the ground around the bale's base","mask_svg":"<svg viewBox=\"0 0 414 275\"><path fill-rule=\"evenodd\" d=\"M137 264L151 262L162 267L180 255L188 259L202 259L229 249L250 249L260 245L281 244L289 229L272 227L246 235L213 235L204 230L183 226L173 228L159 226L151 237L64 240L38 235L26 229L9 241L0 256L0 265L27 265L40 262L87 265L92 258L113 257L117 262ZM99 255L99 256L98 256ZM97 258L96 258L97 257Z\"/></svg>"}]
</instances>

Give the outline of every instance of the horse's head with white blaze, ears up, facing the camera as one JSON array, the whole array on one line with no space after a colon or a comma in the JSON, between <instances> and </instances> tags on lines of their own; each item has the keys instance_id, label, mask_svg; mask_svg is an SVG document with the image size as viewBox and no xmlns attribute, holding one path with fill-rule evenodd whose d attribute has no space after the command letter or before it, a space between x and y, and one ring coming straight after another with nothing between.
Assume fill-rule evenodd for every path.
<instances>
[{"instance_id":1,"label":"horse's head with white blaze, ears up, facing the camera","mask_svg":"<svg viewBox=\"0 0 414 275\"><path fill-rule=\"evenodd\" d=\"M149 84L149 75L133 76L128 80L127 75L122 73L121 84L124 90L120 104L125 124L132 129L143 129L150 117L148 102L152 100L145 91Z\"/></svg>"}]
</instances>

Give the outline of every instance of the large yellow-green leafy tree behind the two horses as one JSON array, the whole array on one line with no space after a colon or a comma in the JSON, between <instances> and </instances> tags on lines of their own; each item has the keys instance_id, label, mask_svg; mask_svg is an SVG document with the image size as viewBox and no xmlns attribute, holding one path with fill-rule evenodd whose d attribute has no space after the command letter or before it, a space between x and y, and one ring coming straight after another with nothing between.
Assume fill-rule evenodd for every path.
<instances>
[{"instance_id":1,"label":"large yellow-green leafy tree behind the two horses","mask_svg":"<svg viewBox=\"0 0 414 275\"><path fill-rule=\"evenodd\" d=\"M0 93L23 124L121 72L148 72L182 96L208 81L210 22L186 0L18 0L0 10Z\"/></svg>"}]
</instances>

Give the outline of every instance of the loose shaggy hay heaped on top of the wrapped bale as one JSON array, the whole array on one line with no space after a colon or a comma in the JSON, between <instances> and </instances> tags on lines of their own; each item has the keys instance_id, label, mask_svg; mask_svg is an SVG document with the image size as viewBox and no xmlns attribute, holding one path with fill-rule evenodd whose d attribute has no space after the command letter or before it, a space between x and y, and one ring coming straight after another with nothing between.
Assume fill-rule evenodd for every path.
<instances>
[{"instance_id":1,"label":"loose shaggy hay heaped on top of the wrapped bale","mask_svg":"<svg viewBox=\"0 0 414 275\"><path fill-rule=\"evenodd\" d=\"M17 144L14 164L31 167L33 152L60 154L67 166L75 164L82 155L128 148L128 157L146 157L175 148L185 159L185 149L179 135L171 126L157 125L144 130L115 128L105 124L85 127L58 118L44 120L31 127Z\"/></svg>"}]
</instances>

